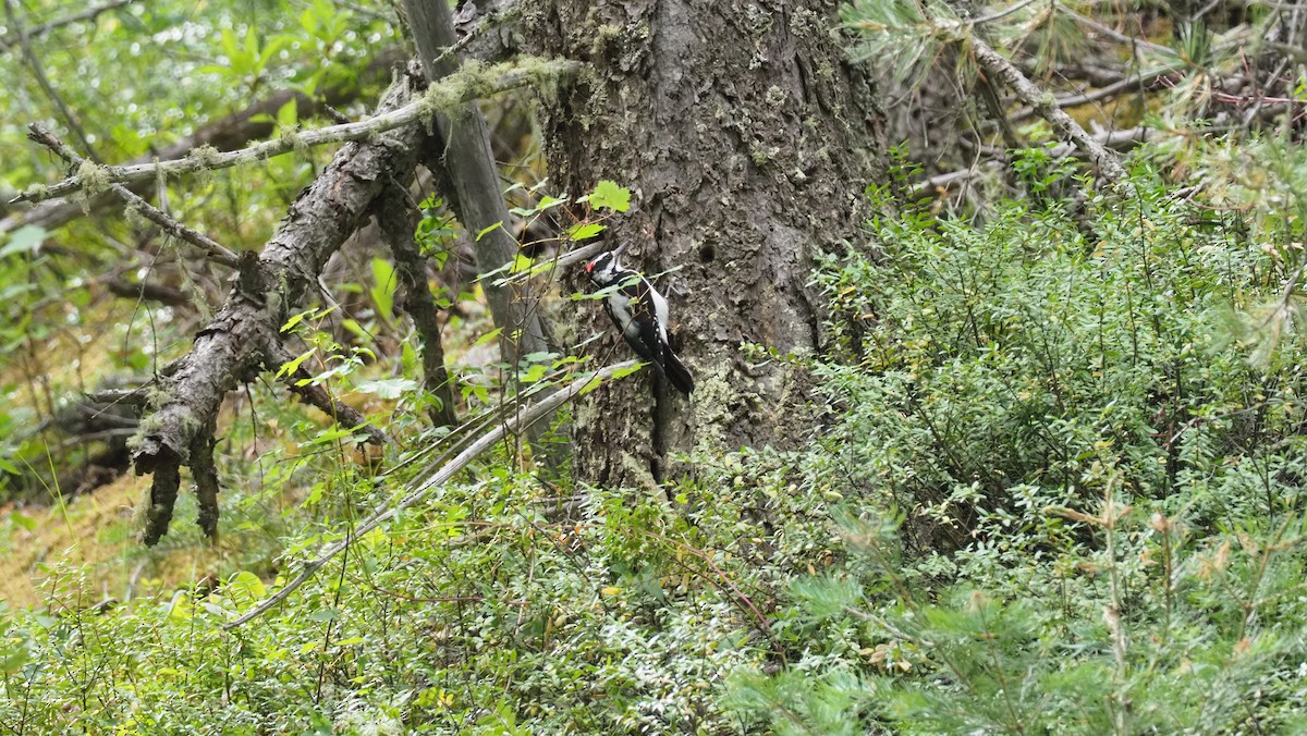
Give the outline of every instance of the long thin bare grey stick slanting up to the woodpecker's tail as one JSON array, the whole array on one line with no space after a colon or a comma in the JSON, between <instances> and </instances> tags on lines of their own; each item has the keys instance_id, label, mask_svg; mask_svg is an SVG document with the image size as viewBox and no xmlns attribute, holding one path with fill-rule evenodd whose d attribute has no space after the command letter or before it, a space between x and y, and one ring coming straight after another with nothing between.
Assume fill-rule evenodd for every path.
<instances>
[{"instance_id":1,"label":"long thin bare grey stick slanting up to the woodpecker's tail","mask_svg":"<svg viewBox=\"0 0 1307 736\"><path fill-rule=\"evenodd\" d=\"M450 478L452 478L459 471L465 468L468 463L476 459L477 455L493 447L495 443L503 439L505 435L507 435L510 431L511 433L523 431L541 417L552 414L565 401L580 395L582 391L584 391L587 387L593 386L595 382L601 382L612 376L614 373L629 369L634 365L635 361L625 361L617 365L608 366L593 375L586 375L578 380L574 380L566 388L555 393L552 393L548 397L537 401L536 404L523 409L516 417L506 422L501 422L494 429L481 435L481 438L477 439L474 443L472 443L467 450L460 452L457 458L455 458L447 465L437 471L435 475L426 477L425 480L420 480L417 482L410 484L412 490L408 493L408 495L400 499L399 503L396 503L389 509L379 510L371 516L369 516L362 524L350 531L350 533L345 539L332 544L320 556L305 563L305 569L301 570L299 574L295 575L293 580L282 586L281 590L268 596L267 600L251 608L240 617L223 624L222 627L225 630L231 630L259 616L263 616L264 613L274 608L277 604L280 604L282 600L289 597L295 588L305 584L310 578L312 578L318 573L318 570L323 567L323 565L331 562L333 557L345 550L356 539L375 529L376 527L382 526L389 519L393 519L395 515L403 511L404 509L408 509L409 506L413 506L418 501L422 501L423 498L430 495L433 492L435 492L442 485L448 482Z\"/></svg>"}]
</instances>

